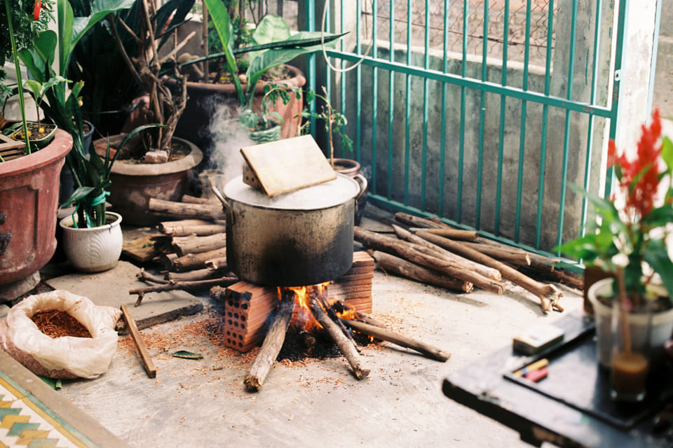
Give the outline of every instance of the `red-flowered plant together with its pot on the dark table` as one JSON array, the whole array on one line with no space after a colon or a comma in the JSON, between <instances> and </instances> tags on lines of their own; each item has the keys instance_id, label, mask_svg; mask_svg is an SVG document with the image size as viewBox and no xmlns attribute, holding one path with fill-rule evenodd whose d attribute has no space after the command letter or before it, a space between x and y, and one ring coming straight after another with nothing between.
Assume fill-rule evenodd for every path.
<instances>
[{"instance_id":1,"label":"red-flowered plant together with its pot on the dark table","mask_svg":"<svg viewBox=\"0 0 673 448\"><path fill-rule=\"evenodd\" d=\"M611 368L613 378L620 378L626 361L630 367L639 364L644 366L638 369L644 378L648 368L658 366L663 344L673 332L669 253L673 143L661 135L659 111L654 111L651 125L643 125L635 158L618 154L614 141L609 143L608 154L623 197L604 200L583 192L594 205L599 223L558 250L597 265L613 277L594 283L589 290L599 362ZM611 311L620 317L611 318ZM621 324L616 339L611 338L611 321ZM613 351L613 346L619 346L618 350ZM627 387L627 395L641 399L643 391L632 393L635 389Z\"/></svg>"}]
</instances>

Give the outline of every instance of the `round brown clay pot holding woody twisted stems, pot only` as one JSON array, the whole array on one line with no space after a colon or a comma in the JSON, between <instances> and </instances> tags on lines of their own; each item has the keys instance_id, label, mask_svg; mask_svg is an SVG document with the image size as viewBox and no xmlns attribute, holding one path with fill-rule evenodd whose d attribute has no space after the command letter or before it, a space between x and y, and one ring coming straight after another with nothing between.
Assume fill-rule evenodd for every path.
<instances>
[{"instance_id":1,"label":"round brown clay pot holding woody twisted stems, pot only","mask_svg":"<svg viewBox=\"0 0 673 448\"><path fill-rule=\"evenodd\" d=\"M123 135L110 137L110 144L121 142ZM177 139L177 137L173 137ZM121 214L130 225L155 225L161 217L149 213L151 197L167 201L180 201L189 188L189 171L203 160L203 153L189 141L177 139L189 145L190 153L184 158L165 163L125 163L116 160L110 174L109 188L111 211ZM95 151L104 156L107 139L94 142Z\"/></svg>"}]
</instances>

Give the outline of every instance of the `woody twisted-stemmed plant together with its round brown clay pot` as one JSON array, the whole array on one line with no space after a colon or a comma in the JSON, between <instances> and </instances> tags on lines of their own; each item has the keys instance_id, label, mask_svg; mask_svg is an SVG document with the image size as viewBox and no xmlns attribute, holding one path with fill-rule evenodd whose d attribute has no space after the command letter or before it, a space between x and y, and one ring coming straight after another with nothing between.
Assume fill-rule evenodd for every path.
<instances>
[{"instance_id":1,"label":"woody twisted-stemmed plant together with its round brown clay pot","mask_svg":"<svg viewBox=\"0 0 673 448\"><path fill-rule=\"evenodd\" d=\"M120 151L111 169L109 202L131 225L156 223L159 218L148 212L149 199L179 200L189 188L189 172L203 158L191 142L174 137L186 101L186 78L175 61L184 41L166 56L159 53L192 5L193 0L171 0L156 8L154 1L137 0L130 10L116 13L107 23L126 69L145 92L137 123L159 125L144 128L125 148L118 148L124 135L109 139L113 152ZM104 155L107 144L107 139L95 141L95 151Z\"/></svg>"}]
</instances>

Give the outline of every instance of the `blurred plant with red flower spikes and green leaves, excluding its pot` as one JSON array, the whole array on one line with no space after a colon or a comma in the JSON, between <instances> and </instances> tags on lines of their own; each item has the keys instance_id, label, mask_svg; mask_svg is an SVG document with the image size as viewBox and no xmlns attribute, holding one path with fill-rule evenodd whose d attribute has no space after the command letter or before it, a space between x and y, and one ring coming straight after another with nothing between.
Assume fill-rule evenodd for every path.
<instances>
[{"instance_id":1,"label":"blurred plant with red flower spikes and green leaves, excluding its pot","mask_svg":"<svg viewBox=\"0 0 673 448\"><path fill-rule=\"evenodd\" d=\"M609 142L608 166L618 193L610 200L582 191L594 206L596 225L583 237L557 248L587 265L614 275L623 272L627 297L634 306L662 285L673 297L673 262L667 239L673 237L673 142L662 137L659 111L642 125L635 158L618 154ZM662 295L656 293L656 296Z\"/></svg>"}]
</instances>

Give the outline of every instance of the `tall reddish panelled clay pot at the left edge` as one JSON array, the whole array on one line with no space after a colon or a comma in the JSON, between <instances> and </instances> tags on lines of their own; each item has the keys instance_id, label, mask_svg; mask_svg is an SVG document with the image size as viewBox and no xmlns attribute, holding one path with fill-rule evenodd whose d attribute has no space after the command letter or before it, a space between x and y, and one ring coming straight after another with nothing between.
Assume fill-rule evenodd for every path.
<instances>
[{"instance_id":1,"label":"tall reddish panelled clay pot at the left edge","mask_svg":"<svg viewBox=\"0 0 673 448\"><path fill-rule=\"evenodd\" d=\"M34 288L56 249L59 174L71 148L57 130L40 151L0 162L0 301Z\"/></svg>"}]
</instances>

